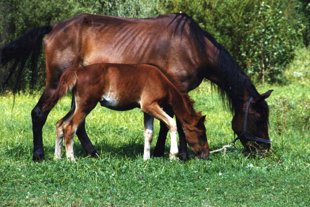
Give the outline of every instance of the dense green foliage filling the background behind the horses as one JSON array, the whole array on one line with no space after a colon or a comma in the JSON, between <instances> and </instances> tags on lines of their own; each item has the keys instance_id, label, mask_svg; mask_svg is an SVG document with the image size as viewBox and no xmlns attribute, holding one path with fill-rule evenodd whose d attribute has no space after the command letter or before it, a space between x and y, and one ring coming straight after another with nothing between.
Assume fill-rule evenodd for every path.
<instances>
[{"instance_id":1,"label":"dense green foliage filling the background behind the horses","mask_svg":"<svg viewBox=\"0 0 310 207\"><path fill-rule=\"evenodd\" d=\"M29 29L84 12L142 18L181 11L214 35L254 81L281 83L296 46L302 38L305 44L309 42L307 8L305 0L0 0L0 44L17 39ZM6 69L1 68L0 81ZM30 76L24 75L20 89L27 89ZM36 87L40 89L45 78L43 55L37 77Z\"/></svg>"}]
</instances>

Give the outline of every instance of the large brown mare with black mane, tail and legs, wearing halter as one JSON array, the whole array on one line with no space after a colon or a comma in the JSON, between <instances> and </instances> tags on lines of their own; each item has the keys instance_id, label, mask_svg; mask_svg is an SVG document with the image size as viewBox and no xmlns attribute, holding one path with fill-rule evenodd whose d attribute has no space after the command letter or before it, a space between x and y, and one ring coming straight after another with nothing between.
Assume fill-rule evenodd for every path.
<instances>
[{"instance_id":1,"label":"large brown mare with black mane, tail and legs, wearing halter","mask_svg":"<svg viewBox=\"0 0 310 207\"><path fill-rule=\"evenodd\" d=\"M34 161L44 159L42 127L50 111L43 112L42 105L56 89L61 74L69 68L102 62L155 65L181 82L185 92L199 86L203 78L210 80L218 86L223 101L228 103L234 115L232 129L240 138L246 152L269 151L269 109L264 99L272 90L260 95L228 51L189 16L166 14L134 19L81 14L29 30L18 40L0 48L2 65L14 60L3 85L6 85L18 64L18 74L22 73L27 59L30 59L34 71L45 34L46 87L31 112ZM16 84L17 82L18 79ZM248 103L245 100L249 100L249 97L253 99L248 115L245 116ZM73 99L72 105L74 104ZM173 116L169 107L164 108L164 111ZM247 121L244 121L245 117ZM253 141L243 136L243 123L247 125L247 132L266 142L256 139ZM164 154L168 129L163 122L160 125L153 156ZM178 121L177 126L181 129ZM178 132L180 159L187 158L184 133L182 130ZM96 150L85 132L85 122L78 127L76 134L86 153L95 156Z\"/></svg>"}]
</instances>

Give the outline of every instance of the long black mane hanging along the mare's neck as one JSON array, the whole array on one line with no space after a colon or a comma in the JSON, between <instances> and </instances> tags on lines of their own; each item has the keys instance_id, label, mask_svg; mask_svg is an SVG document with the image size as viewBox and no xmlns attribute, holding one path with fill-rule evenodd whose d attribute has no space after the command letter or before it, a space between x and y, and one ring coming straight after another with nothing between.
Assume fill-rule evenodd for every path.
<instances>
[{"instance_id":1,"label":"long black mane hanging along the mare's neck","mask_svg":"<svg viewBox=\"0 0 310 207\"><path fill-rule=\"evenodd\" d=\"M178 18L180 17L180 18ZM175 24L175 34L177 33L179 25L183 21L180 34L182 35L183 29L186 25L186 22L189 21L189 30L190 35L194 41L196 41L197 46L199 47L198 50L201 55L206 57L206 44L205 44L205 37L219 50L219 54L217 57L217 67L216 68L208 68L206 72L219 77L218 84L218 92L221 95L223 103L227 104L228 108L232 113L236 110L236 104L240 103L240 101L244 100L244 87L247 88L249 91L249 95L253 98L260 97L259 93L257 92L255 86L250 81L250 78L242 71L240 66L237 62L232 58L229 52L222 46L219 42L215 40L212 35L203 29L195 22L190 16L184 13L175 13L175 17L171 22L172 24L174 21L177 21ZM207 66L206 66L207 67ZM214 86L214 83L212 83ZM267 104L266 104L267 106ZM267 110L263 112L268 119L268 106L263 107Z\"/></svg>"}]
</instances>

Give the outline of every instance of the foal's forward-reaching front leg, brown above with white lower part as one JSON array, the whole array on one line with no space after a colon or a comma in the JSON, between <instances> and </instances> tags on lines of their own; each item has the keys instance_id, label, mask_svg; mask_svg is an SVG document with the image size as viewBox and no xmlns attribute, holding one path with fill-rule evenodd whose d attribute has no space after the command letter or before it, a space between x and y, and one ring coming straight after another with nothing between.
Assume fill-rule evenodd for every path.
<instances>
[{"instance_id":1,"label":"foal's forward-reaching front leg, brown above with white lower part","mask_svg":"<svg viewBox=\"0 0 310 207\"><path fill-rule=\"evenodd\" d=\"M170 147L170 159L176 158L179 151L176 141L176 123L173 118L168 116L157 103L153 103L149 106L141 106L141 110L145 113L148 113L155 117L156 119L163 121L166 123L168 129L170 130L170 139L171 139L171 147Z\"/></svg>"}]
</instances>

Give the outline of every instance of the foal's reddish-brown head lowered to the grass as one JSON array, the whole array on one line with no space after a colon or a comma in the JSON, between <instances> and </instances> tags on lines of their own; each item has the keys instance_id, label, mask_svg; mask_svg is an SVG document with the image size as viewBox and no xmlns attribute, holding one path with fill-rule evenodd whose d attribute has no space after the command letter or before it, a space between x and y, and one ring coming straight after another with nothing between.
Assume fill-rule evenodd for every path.
<instances>
[{"instance_id":1,"label":"foal's reddish-brown head lowered to the grass","mask_svg":"<svg viewBox=\"0 0 310 207\"><path fill-rule=\"evenodd\" d=\"M199 159L209 159L209 144L204 124L206 116L197 113L197 119L191 123L191 127L185 131L186 142Z\"/></svg>"}]
</instances>

